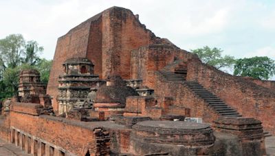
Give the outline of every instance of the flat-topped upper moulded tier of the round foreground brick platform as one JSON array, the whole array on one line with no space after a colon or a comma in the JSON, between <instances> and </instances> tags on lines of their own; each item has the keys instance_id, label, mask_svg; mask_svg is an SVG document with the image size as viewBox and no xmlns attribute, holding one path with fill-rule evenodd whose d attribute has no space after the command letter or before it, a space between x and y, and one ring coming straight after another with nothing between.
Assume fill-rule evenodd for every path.
<instances>
[{"instance_id":1,"label":"flat-topped upper moulded tier of the round foreground brick platform","mask_svg":"<svg viewBox=\"0 0 275 156\"><path fill-rule=\"evenodd\" d=\"M142 121L133 125L134 136L144 142L208 146L214 144L209 125L182 121Z\"/></svg>"}]
</instances>

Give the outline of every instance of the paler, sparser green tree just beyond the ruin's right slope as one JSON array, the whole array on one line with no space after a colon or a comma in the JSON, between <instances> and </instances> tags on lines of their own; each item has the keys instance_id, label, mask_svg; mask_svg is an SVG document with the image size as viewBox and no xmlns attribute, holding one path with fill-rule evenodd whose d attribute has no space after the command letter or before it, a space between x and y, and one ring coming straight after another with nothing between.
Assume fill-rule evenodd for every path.
<instances>
[{"instance_id":1,"label":"paler, sparser green tree just beyond the ruin's right slope","mask_svg":"<svg viewBox=\"0 0 275 156\"><path fill-rule=\"evenodd\" d=\"M201 62L205 64L209 64L210 66L214 66L217 69L220 68L231 68L234 64L235 60L233 56L225 55L224 57L221 56L221 53L223 52L221 49L218 49L216 47L210 48L208 46L203 47L202 49L193 49L191 50L192 53L195 53L198 55L198 57L201 59Z\"/></svg>"}]
</instances>

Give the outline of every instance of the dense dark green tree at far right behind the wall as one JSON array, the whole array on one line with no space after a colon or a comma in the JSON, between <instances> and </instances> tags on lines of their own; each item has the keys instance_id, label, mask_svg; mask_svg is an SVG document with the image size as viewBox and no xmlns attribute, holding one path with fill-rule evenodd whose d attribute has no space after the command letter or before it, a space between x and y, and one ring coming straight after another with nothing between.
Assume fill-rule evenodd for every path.
<instances>
[{"instance_id":1,"label":"dense dark green tree at far right behind the wall","mask_svg":"<svg viewBox=\"0 0 275 156\"><path fill-rule=\"evenodd\" d=\"M254 79L270 79L275 75L274 60L266 56L236 60L234 75L253 77Z\"/></svg>"}]
</instances>

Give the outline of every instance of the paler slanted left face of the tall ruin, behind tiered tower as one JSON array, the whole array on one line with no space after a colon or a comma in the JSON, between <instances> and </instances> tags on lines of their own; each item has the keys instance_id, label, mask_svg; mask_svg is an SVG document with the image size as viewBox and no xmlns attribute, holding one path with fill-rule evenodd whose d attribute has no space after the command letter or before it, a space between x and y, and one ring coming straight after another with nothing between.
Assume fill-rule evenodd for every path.
<instances>
[{"instance_id":1,"label":"paler slanted left face of the tall ruin, behind tiered tower","mask_svg":"<svg viewBox=\"0 0 275 156\"><path fill-rule=\"evenodd\" d=\"M54 96L53 107L58 109L58 76L63 73L63 62L71 57L85 57L89 38L90 19L71 29L65 36L58 38L54 61L47 84L47 94Z\"/></svg>"}]
</instances>

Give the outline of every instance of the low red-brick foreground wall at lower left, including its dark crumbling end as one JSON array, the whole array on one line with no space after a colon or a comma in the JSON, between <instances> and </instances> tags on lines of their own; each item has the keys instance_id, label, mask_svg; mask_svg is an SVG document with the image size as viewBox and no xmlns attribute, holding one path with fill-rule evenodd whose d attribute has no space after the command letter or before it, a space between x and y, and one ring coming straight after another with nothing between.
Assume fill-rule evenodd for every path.
<instances>
[{"instance_id":1,"label":"low red-brick foreground wall at lower left, including its dark crumbling end","mask_svg":"<svg viewBox=\"0 0 275 156\"><path fill-rule=\"evenodd\" d=\"M27 109L23 109L23 107ZM33 108L32 111L30 107ZM10 127L13 131L11 142L20 143L20 140L23 140L21 142L27 140L25 142L28 142L28 139L30 142L39 141L46 145L52 144L49 146L58 148L64 154L85 155L88 151L90 155L96 155L96 153L102 153L102 151L103 153L109 153L109 133L104 131L102 127L97 125L88 126L85 125L85 122L54 116L36 116L32 112L37 112L37 107L39 107L39 104L13 103L10 112ZM20 139L19 136L22 135L23 138ZM39 138L39 140L35 138ZM21 146L28 145L21 143Z\"/></svg>"}]
</instances>

